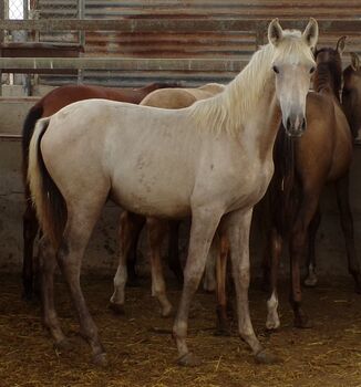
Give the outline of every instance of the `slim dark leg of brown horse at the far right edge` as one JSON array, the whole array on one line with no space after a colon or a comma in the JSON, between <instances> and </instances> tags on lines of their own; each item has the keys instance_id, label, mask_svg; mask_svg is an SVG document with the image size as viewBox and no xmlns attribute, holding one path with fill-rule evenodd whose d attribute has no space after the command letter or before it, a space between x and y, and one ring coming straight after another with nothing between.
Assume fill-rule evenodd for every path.
<instances>
[{"instance_id":1,"label":"slim dark leg of brown horse at the far right edge","mask_svg":"<svg viewBox=\"0 0 361 387\"><path fill-rule=\"evenodd\" d=\"M360 262L354 247L353 219L350 208L349 195L349 174L336 184L338 206L340 210L341 227L345 240L348 254L349 273L352 274L355 282L355 291L361 293L361 273Z\"/></svg>"}]
</instances>

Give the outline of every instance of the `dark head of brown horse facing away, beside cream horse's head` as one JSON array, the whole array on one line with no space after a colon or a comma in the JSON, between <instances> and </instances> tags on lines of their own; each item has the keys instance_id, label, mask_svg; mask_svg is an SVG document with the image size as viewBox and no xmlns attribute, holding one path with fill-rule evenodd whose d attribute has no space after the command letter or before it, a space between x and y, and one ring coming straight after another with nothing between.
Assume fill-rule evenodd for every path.
<instances>
[{"instance_id":1,"label":"dark head of brown horse facing away, beside cream horse's head","mask_svg":"<svg viewBox=\"0 0 361 387\"><path fill-rule=\"evenodd\" d=\"M313 88L320 92L323 88L330 90L334 96L340 100L340 91L342 84L342 53L347 36L341 36L336 49L322 48L314 51L314 60L317 63Z\"/></svg>"}]
</instances>

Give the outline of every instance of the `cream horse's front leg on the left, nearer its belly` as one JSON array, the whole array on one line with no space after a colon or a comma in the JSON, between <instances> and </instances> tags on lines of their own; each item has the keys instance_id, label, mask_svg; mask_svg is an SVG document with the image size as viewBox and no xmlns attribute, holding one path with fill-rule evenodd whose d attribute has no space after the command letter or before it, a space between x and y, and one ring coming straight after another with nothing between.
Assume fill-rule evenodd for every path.
<instances>
[{"instance_id":1,"label":"cream horse's front leg on the left, nearer its belly","mask_svg":"<svg viewBox=\"0 0 361 387\"><path fill-rule=\"evenodd\" d=\"M188 351L186 344L190 301L196 292L206 265L212 240L223 212L219 209L197 208L192 211L189 249L184 270L184 285L178 312L174 322L175 338L179 358L178 364L195 366L199 362Z\"/></svg>"}]
</instances>

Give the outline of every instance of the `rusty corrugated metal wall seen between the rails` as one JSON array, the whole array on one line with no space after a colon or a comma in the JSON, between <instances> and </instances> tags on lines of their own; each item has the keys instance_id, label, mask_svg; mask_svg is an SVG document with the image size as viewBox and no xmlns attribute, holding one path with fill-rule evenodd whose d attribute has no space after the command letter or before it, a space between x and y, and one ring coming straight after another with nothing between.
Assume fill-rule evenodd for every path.
<instances>
[{"instance_id":1,"label":"rusty corrugated metal wall seen between the rails","mask_svg":"<svg viewBox=\"0 0 361 387\"><path fill-rule=\"evenodd\" d=\"M38 0L40 18L76 18L76 0ZM361 0L85 0L85 18L235 18L235 19L355 19L361 17ZM120 21L121 22L121 21ZM342 34L320 31L320 45L333 45ZM348 51L361 51L360 35L351 35ZM78 34L42 34L42 41L76 42ZM86 56L116 57L240 57L256 46L254 31L213 31L178 33L85 33ZM233 74L220 73L96 73L86 72L85 82L135 85L153 79L179 79L188 84L226 82ZM54 80L54 79L53 79ZM49 77L48 77L49 81ZM66 82L59 77L58 82ZM56 81L55 81L56 82Z\"/></svg>"}]
</instances>

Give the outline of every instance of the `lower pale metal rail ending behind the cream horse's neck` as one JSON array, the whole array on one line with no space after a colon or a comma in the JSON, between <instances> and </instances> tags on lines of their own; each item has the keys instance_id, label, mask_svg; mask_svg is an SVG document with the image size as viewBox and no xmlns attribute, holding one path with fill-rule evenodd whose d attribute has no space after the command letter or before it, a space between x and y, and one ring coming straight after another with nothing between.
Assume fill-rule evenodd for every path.
<instances>
[{"instance_id":1,"label":"lower pale metal rail ending behind the cream horse's neck","mask_svg":"<svg viewBox=\"0 0 361 387\"><path fill-rule=\"evenodd\" d=\"M0 57L3 72L22 70L123 70L123 71L239 71L241 59L136 59L136 57Z\"/></svg>"}]
</instances>

